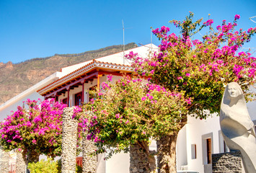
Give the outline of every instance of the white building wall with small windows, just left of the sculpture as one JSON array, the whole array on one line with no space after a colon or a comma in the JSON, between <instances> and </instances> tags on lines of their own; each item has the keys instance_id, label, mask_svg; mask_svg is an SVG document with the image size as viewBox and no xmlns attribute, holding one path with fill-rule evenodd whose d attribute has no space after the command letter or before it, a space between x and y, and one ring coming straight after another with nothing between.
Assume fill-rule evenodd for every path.
<instances>
[{"instance_id":1,"label":"white building wall with small windows, just left of the sculpture","mask_svg":"<svg viewBox=\"0 0 256 173\"><path fill-rule=\"evenodd\" d=\"M256 102L248 102L247 108L256 125ZM188 117L178 135L177 169L211 172L211 154L229 152L224 143L219 125L219 116L211 115L206 120Z\"/></svg>"}]
</instances>

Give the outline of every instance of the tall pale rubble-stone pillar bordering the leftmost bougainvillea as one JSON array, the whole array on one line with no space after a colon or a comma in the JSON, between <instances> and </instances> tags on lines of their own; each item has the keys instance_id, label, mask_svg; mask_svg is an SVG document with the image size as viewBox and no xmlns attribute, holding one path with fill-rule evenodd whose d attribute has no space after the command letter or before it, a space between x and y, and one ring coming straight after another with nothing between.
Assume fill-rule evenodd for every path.
<instances>
[{"instance_id":1,"label":"tall pale rubble-stone pillar bordering the leftmost bougainvillea","mask_svg":"<svg viewBox=\"0 0 256 173\"><path fill-rule=\"evenodd\" d=\"M73 112L74 107L66 107L62 115L62 173L76 173L77 121L72 119Z\"/></svg>"}]
</instances>

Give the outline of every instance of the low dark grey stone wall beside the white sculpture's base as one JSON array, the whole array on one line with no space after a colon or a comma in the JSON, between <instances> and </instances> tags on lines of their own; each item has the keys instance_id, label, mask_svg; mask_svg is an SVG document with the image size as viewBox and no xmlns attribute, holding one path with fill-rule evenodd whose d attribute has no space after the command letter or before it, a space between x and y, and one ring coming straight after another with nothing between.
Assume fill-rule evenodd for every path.
<instances>
[{"instance_id":1,"label":"low dark grey stone wall beside the white sculpture's base","mask_svg":"<svg viewBox=\"0 0 256 173\"><path fill-rule=\"evenodd\" d=\"M242 173L242 156L240 151L231 151L224 154L212 154L213 173Z\"/></svg>"}]
</instances>

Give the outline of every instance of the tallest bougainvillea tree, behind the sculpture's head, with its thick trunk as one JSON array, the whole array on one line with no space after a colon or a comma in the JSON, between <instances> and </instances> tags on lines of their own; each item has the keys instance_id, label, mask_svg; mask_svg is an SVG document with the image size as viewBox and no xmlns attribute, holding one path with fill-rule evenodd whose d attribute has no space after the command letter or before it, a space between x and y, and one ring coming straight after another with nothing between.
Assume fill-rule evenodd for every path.
<instances>
[{"instance_id":1,"label":"tallest bougainvillea tree, behind the sculpture's head, with its thick trunk","mask_svg":"<svg viewBox=\"0 0 256 173\"><path fill-rule=\"evenodd\" d=\"M159 51L153 56L141 58L131 52L127 58L133 60L136 73L150 76L152 83L191 98L191 105L187 105L189 113L200 119L206 118L209 113L219 112L224 86L231 81L237 81L242 86L247 100L255 94L250 93L249 88L255 84L256 58L241 48L244 43L250 42L256 27L247 31L236 30L239 18L236 15L232 23L224 20L214 30L213 19L203 23L203 19L193 22L193 13L190 12L182 22L170 21L180 29L180 35L169 34L169 27L164 26L153 30L161 40ZM204 27L209 28L206 35L193 40L193 36L200 37L195 34ZM180 125L187 123L186 116L183 117ZM160 172L176 172L175 152L171 150L175 150L179 130L158 141ZM169 141L169 146L162 141Z\"/></svg>"}]
</instances>

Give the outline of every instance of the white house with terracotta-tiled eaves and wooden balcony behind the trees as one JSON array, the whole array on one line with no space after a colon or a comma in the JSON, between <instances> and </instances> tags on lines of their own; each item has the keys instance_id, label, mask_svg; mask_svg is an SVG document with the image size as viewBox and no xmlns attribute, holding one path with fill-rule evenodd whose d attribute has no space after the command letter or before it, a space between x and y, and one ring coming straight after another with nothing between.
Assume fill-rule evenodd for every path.
<instances>
[{"instance_id":1,"label":"white house with terracotta-tiled eaves and wooden balcony behind the trees","mask_svg":"<svg viewBox=\"0 0 256 173\"><path fill-rule=\"evenodd\" d=\"M147 57L151 51L156 51L156 45L144 45L131 50L141 57ZM112 74L117 80L122 73L131 73L129 62L123 58L123 52L110 56L86 61L74 66L62 68L61 71L48 76L25 92L9 99L0 106L0 121L17 109L26 99L55 98L58 102L65 102L69 106L80 105L89 101L89 89L100 87L107 75ZM247 104L252 120L256 123L256 102ZM156 143L152 141L151 150L156 150ZM220 133L219 117L212 115L206 120L188 117L177 140L177 169L211 172L211 154L228 151ZM116 154L105 161L104 156L98 158L97 173L129 172L129 154Z\"/></svg>"}]
</instances>

